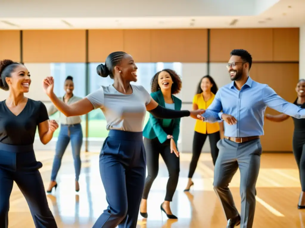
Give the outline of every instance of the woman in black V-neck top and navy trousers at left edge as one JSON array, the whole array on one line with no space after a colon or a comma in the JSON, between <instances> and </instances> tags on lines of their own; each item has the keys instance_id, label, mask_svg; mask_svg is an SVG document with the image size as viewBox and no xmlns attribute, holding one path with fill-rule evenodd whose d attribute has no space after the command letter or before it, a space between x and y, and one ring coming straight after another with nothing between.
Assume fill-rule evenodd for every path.
<instances>
[{"instance_id":1,"label":"woman in black V-neck top and navy trousers at left edge","mask_svg":"<svg viewBox=\"0 0 305 228\"><path fill-rule=\"evenodd\" d=\"M31 80L23 64L0 61L0 75L0 88L10 92L0 102L0 227L8 227L9 197L15 181L27 200L35 227L56 228L38 171L42 164L36 161L33 143L37 126L41 142L47 144L58 124L48 120L42 102L24 96Z\"/></svg>"}]
</instances>

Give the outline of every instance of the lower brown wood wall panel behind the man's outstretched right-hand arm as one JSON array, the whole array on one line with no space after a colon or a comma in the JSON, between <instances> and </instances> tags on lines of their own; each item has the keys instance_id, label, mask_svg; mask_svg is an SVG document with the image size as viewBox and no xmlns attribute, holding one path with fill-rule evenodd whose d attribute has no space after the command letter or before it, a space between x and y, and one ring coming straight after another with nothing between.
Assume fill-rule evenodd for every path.
<instances>
[{"instance_id":1,"label":"lower brown wood wall panel behind the man's outstretched right-hand arm","mask_svg":"<svg viewBox=\"0 0 305 228\"><path fill-rule=\"evenodd\" d=\"M289 72L287 74L287 72ZM286 101L296 99L296 84L299 80L298 63L255 63L250 70L250 77L260 83L269 85ZM266 113L278 115L279 112L267 107ZM261 143L264 151L292 151L292 118L274 123L265 119L264 136Z\"/></svg>"}]
</instances>

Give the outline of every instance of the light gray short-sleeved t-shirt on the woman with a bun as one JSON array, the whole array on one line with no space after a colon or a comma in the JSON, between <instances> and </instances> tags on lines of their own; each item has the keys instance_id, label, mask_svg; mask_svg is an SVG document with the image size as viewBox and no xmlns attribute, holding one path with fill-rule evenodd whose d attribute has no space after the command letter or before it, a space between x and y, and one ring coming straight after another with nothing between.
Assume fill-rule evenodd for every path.
<instances>
[{"instance_id":1,"label":"light gray short-sleeved t-shirt on the woman with a bun","mask_svg":"<svg viewBox=\"0 0 305 228\"><path fill-rule=\"evenodd\" d=\"M142 85L131 85L132 94L118 92L113 85L101 86L86 98L94 109L102 109L107 130L143 131L146 105L151 96Z\"/></svg>"}]
</instances>

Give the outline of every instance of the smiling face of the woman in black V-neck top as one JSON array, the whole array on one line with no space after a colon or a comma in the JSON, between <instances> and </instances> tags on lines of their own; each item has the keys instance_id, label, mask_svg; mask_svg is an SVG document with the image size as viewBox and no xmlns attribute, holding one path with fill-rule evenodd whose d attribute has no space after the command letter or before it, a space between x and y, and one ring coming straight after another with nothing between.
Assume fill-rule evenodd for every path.
<instances>
[{"instance_id":1,"label":"smiling face of the woman in black V-neck top","mask_svg":"<svg viewBox=\"0 0 305 228\"><path fill-rule=\"evenodd\" d=\"M30 72L24 65L18 64L11 73L11 77L6 77L5 80L11 90L23 93L29 92L31 84Z\"/></svg>"}]
</instances>

